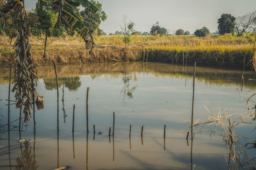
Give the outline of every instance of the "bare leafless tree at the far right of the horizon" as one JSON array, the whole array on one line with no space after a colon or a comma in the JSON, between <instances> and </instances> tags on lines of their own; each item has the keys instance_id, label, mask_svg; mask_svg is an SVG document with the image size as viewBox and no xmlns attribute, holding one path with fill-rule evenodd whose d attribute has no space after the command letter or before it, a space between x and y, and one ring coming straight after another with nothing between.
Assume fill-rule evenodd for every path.
<instances>
[{"instance_id":1,"label":"bare leafless tree at the far right of the horizon","mask_svg":"<svg viewBox=\"0 0 256 170\"><path fill-rule=\"evenodd\" d=\"M253 31L256 25L256 11L247 13L242 17L236 18L236 34L242 36L246 31Z\"/></svg>"}]
</instances>

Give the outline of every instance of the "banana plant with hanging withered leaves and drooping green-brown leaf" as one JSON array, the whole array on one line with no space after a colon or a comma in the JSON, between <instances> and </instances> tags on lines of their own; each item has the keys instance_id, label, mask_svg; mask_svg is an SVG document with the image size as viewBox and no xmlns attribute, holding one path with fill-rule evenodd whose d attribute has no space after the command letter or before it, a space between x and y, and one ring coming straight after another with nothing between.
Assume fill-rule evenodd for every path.
<instances>
[{"instance_id":1,"label":"banana plant with hanging withered leaves and drooping green-brown leaf","mask_svg":"<svg viewBox=\"0 0 256 170\"><path fill-rule=\"evenodd\" d=\"M35 99L37 77L36 66L30 53L31 45L29 44L29 32L26 27L26 10L24 1L22 2L21 4L20 1L9 0L6 4L0 5L0 18L13 12L17 15L17 18L19 18L15 23L17 39L13 46L13 48L15 48L15 71L12 92L15 92L15 100L17 101L16 107L21 110L22 106L24 106L24 122L28 122L31 117L31 108ZM61 0L56 0L49 3L54 13L58 13L56 25L63 22L65 25L68 25L70 29L76 29L84 39L86 49L92 50L94 45L92 34L88 31L86 25L83 24L79 18L80 16L77 15L76 7L82 5L84 8L90 8L92 11L97 11L97 8L88 0L66 0L65 3Z\"/></svg>"}]
</instances>

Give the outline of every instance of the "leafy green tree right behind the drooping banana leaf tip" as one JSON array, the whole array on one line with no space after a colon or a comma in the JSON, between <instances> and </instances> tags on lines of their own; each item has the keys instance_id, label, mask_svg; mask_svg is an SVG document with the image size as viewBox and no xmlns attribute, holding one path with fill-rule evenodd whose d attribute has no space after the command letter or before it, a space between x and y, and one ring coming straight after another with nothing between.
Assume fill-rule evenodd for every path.
<instances>
[{"instance_id":1,"label":"leafy green tree right behind the drooping banana leaf tip","mask_svg":"<svg viewBox=\"0 0 256 170\"><path fill-rule=\"evenodd\" d=\"M90 9L85 8L81 11L81 15L83 17L83 22L86 27L90 30L91 33L99 28L99 25L102 21L107 19L107 15L105 11L102 10L102 4L96 1L91 1L91 3L98 8L96 13L93 13Z\"/></svg>"}]
</instances>

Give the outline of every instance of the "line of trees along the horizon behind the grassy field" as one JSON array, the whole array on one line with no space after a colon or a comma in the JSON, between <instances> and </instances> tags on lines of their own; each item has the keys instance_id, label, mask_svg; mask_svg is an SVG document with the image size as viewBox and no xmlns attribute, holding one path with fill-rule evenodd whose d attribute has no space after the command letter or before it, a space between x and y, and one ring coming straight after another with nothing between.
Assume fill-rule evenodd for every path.
<instances>
[{"instance_id":1,"label":"line of trees along the horizon behind the grassy field","mask_svg":"<svg viewBox=\"0 0 256 170\"><path fill-rule=\"evenodd\" d=\"M83 11L79 11L77 15L80 16L81 20L83 20L91 33L94 32L98 35L106 35L106 32L102 31L102 29L99 28L99 25L106 20L107 15L105 11L102 10L102 4L95 0L92 0L91 2L99 8L97 13L93 13L85 8ZM5 4L5 1L0 0L0 5L1 4ZM58 14L52 12L51 8L51 5L41 1L40 4L36 4L35 10L26 13L26 17L28 18L26 20L26 26L28 27L29 34L33 36L41 36L42 34L45 34L46 36L54 37L76 34L76 32L68 29L66 25L58 25L58 27L56 27ZM15 13L9 13L8 15L10 16L0 18L0 34L6 34L10 38L13 38L15 37L15 28L18 27L18 25L14 24L15 22L13 22L13 20L20 20L20 18L17 17ZM242 36L245 32L256 31L256 11L252 11L237 18L230 14L223 13L217 22L218 31L216 33L221 35L236 34L237 36ZM168 35L168 31L166 28L161 27L159 22L156 22L152 25L150 32L135 31L132 29L125 34L164 36ZM174 34L182 36L190 35L191 33L189 31L184 31L183 29L178 29ZM198 37L204 37L211 33L207 27L202 27L201 29L196 29L192 34ZM124 35L124 31L115 31L115 33L109 33L109 35Z\"/></svg>"}]
</instances>

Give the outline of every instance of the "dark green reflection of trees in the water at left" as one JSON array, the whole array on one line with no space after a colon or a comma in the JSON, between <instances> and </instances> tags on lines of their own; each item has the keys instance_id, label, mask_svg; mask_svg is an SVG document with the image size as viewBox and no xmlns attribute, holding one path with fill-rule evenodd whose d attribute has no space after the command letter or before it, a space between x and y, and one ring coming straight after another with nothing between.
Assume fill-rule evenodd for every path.
<instances>
[{"instance_id":1,"label":"dark green reflection of trees in the water at left","mask_svg":"<svg viewBox=\"0 0 256 170\"><path fill-rule=\"evenodd\" d=\"M70 91L75 91L81 86L80 77L65 77L65 78L58 78L59 87L61 85L65 85ZM55 78L44 78L45 89L53 90L57 89L56 86L56 79Z\"/></svg>"}]
</instances>

